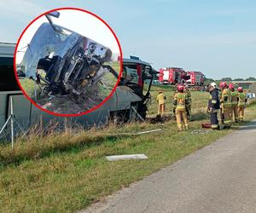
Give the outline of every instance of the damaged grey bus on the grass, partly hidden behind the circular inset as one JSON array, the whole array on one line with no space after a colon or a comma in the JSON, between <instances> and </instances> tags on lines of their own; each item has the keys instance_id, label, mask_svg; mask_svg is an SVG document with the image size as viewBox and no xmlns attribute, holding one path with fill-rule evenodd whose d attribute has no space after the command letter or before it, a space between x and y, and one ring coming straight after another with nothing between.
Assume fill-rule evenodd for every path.
<instances>
[{"instance_id":1,"label":"damaged grey bus on the grass, partly hidden behind the circular inset","mask_svg":"<svg viewBox=\"0 0 256 213\"><path fill-rule=\"evenodd\" d=\"M22 94L15 79L14 52L15 43L0 43L0 129L9 118L10 97L14 103L15 119L24 130L38 123L39 119L44 123L49 120L63 122L63 117L43 112L32 105ZM93 112L68 119L82 124L86 128L94 125L106 125L111 120L118 122L143 120L146 117L150 87L155 73L155 70L147 62L138 58L124 59L119 86L108 101ZM144 89L146 81L148 86L147 89Z\"/></svg>"}]
</instances>

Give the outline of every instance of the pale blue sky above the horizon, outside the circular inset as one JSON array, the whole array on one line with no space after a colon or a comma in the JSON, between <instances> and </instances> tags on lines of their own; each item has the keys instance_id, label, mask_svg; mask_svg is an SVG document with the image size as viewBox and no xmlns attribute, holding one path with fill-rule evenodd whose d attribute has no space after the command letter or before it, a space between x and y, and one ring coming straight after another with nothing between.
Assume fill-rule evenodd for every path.
<instances>
[{"instance_id":1,"label":"pale blue sky above the horizon, outside the circular inset","mask_svg":"<svg viewBox=\"0 0 256 213\"><path fill-rule=\"evenodd\" d=\"M16 43L38 14L75 7L105 20L125 57L155 69L182 67L207 78L256 77L256 1L253 0L8 0L0 2L0 41Z\"/></svg>"}]
</instances>

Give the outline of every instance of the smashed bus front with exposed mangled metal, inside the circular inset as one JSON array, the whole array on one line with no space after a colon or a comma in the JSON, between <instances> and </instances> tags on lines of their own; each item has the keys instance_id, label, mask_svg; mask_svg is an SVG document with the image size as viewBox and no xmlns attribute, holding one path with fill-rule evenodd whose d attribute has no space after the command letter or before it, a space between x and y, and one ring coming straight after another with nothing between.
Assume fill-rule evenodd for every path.
<instances>
[{"instance_id":1,"label":"smashed bus front with exposed mangled metal, inside the circular inset","mask_svg":"<svg viewBox=\"0 0 256 213\"><path fill-rule=\"evenodd\" d=\"M101 43L65 27L57 26L46 14L49 23L43 23L27 45L20 66L19 77L31 78L41 88L41 95L84 95L86 90L112 72L104 65L112 60L112 51Z\"/></svg>"}]
</instances>

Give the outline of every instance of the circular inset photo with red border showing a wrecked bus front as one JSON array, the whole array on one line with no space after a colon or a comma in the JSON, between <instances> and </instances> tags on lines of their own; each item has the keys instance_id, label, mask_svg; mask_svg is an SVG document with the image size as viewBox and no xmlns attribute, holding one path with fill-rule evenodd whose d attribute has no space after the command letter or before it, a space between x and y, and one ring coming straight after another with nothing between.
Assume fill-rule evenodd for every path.
<instances>
[{"instance_id":1,"label":"circular inset photo with red border showing a wrecked bus front","mask_svg":"<svg viewBox=\"0 0 256 213\"><path fill-rule=\"evenodd\" d=\"M22 32L15 49L20 89L34 105L59 116L101 107L116 89L121 67L115 33L83 9L41 14Z\"/></svg>"}]
</instances>

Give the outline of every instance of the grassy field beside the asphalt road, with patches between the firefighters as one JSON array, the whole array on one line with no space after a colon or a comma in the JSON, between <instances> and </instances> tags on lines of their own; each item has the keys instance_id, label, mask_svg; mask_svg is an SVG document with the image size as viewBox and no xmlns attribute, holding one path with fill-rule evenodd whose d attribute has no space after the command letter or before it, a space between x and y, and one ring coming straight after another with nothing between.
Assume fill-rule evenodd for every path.
<instances>
[{"instance_id":1,"label":"grassy field beside the asphalt road, with patches between the firefighters","mask_svg":"<svg viewBox=\"0 0 256 213\"><path fill-rule=\"evenodd\" d=\"M157 112L154 101L159 87L152 92L149 114ZM166 87L167 111L170 112L172 89ZM1 212L74 212L81 210L121 187L172 164L207 146L232 130L207 130L202 136L201 122L206 121L207 93L192 92L193 122L190 130L177 132L174 121L165 124L111 125L103 130L66 130L20 139L15 149L0 147ZM170 103L170 104L169 104ZM166 114L168 115L168 114ZM256 118L256 105L247 108L246 120ZM236 130L236 125L233 130ZM146 135L143 130L159 129ZM195 134L192 134L195 133ZM144 153L146 160L108 162L107 155Z\"/></svg>"}]
</instances>

